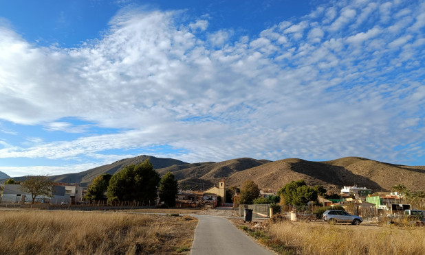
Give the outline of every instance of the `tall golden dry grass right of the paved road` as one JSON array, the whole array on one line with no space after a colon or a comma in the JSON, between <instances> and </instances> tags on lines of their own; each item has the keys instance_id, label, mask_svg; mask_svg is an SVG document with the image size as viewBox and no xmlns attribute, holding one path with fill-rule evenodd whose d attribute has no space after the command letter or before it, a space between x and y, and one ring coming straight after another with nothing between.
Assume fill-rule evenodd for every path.
<instances>
[{"instance_id":1,"label":"tall golden dry grass right of the paved road","mask_svg":"<svg viewBox=\"0 0 425 255\"><path fill-rule=\"evenodd\" d=\"M346 228L344 228L346 227ZM268 232L290 254L424 254L424 228L328 226L283 221Z\"/></svg>"}]
</instances>

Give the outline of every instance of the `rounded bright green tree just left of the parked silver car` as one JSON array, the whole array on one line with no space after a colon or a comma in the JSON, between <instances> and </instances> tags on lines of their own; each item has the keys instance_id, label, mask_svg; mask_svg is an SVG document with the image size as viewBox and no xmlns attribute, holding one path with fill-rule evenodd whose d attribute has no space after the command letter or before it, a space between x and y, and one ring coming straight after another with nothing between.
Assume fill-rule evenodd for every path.
<instances>
[{"instance_id":1,"label":"rounded bright green tree just left of the parked silver car","mask_svg":"<svg viewBox=\"0 0 425 255\"><path fill-rule=\"evenodd\" d=\"M305 184L304 180L292 181L278 191L281 201L287 205L303 206L317 200L317 191Z\"/></svg>"}]
</instances>

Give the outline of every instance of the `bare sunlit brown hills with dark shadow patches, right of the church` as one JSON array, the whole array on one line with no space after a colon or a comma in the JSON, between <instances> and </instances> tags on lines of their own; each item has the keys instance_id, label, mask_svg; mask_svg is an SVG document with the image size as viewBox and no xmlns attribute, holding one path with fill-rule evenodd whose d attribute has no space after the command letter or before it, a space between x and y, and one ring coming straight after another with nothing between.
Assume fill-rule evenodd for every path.
<instances>
[{"instance_id":1,"label":"bare sunlit brown hills with dark shadow patches, right of the church","mask_svg":"<svg viewBox=\"0 0 425 255\"><path fill-rule=\"evenodd\" d=\"M254 180L262 189L280 189L299 179L308 185L320 184L327 189L357 184L373 190L389 190L395 184L404 184L413 191L424 191L425 167L391 165L354 157L324 162L288 158L234 173L225 180L228 185Z\"/></svg>"}]
</instances>

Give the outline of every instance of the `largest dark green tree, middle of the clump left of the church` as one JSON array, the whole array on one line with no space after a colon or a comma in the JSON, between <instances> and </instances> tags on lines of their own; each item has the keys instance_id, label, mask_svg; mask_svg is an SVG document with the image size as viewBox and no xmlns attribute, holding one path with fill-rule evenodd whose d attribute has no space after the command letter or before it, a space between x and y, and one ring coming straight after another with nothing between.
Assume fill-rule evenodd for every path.
<instances>
[{"instance_id":1,"label":"largest dark green tree, middle of the clump left of the church","mask_svg":"<svg viewBox=\"0 0 425 255\"><path fill-rule=\"evenodd\" d=\"M151 205L157 197L159 182L160 175L149 160L127 165L109 180L108 201L138 201L142 205Z\"/></svg>"}]
</instances>

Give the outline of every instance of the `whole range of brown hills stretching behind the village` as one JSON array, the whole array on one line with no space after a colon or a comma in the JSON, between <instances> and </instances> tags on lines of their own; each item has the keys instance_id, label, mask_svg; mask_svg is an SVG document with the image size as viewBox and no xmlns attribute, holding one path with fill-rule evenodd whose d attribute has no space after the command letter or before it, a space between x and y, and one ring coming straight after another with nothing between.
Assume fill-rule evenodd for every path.
<instances>
[{"instance_id":1,"label":"whole range of brown hills stretching behind the village","mask_svg":"<svg viewBox=\"0 0 425 255\"><path fill-rule=\"evenodd\" d=\"M88 186L102 173L114 174L130 164L149 159L160 175L171 171L179 186L196 185L208 189L225 180L227 186L240 186L245 180L253 180L261 189L281 189L292 180L303 179L310 186L323 185L336 190L341 186L365 186L373 191L389 191L391 186L404 184L412 191L425 191L425 167L393 165L367 158L347 157L330 161L307 161L298 158L270 161L254 158L236 158L222 162L187 163L173 158L137 156L118 160L80 173L51 176L54 182L78 183ZM1 179L1 178L0 178ZM14 180L23 180L14 178Z\"/></svg>"}]
</instances>

